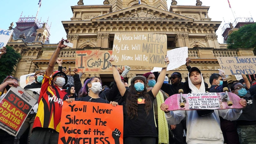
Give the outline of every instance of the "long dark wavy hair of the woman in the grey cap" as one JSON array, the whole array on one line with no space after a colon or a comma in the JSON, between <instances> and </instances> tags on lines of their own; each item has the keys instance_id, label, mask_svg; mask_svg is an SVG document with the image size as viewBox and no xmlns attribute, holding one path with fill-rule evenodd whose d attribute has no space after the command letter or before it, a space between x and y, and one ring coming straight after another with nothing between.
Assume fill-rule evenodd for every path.
<instances>
[{"instance_id":1,"label":"long dark wavy hair of the woman in the grey cap","mask_svg":"<svg viewBox=\"0 0 256 144\"><path fill-rule=\"evenodd\" d=\"M137 94L136 89L134 88L134 82L132 82L132 85L129 86L130 90L126 98L125 103L125 109L127 112L128 118L132 119L134 117L138 118L138 98L139 96L143 96L145 98L145 111L147 115L149 115L149 111L152 108L152 102L150 95L147 92L147 88L144 83L144 90L140 92L140 94Z\"/></svg>"}]
</instances>

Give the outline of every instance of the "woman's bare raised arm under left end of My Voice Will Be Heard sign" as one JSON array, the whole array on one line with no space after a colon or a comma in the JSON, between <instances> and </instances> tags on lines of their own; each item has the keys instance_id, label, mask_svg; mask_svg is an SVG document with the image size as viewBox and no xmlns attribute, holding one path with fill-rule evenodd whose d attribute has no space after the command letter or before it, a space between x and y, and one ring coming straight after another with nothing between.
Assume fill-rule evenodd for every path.
<instances>
[{"instance_id":1,"label":"woman's bare raised arm under left end of My Voice Will Be Heard sign","mask_svg":"<svg viewBox=\"0 0 256 144\"><path fill-rule=\"evenodd\" d=\"M114 61L114 57L111 56L110 59L109 59L109 61L110 61L110 63L111 63L112 61ZM124 84L122 83L122 80L121 80L121 77L120 77L120 74L119 74L119 72L118 72L117 67L114 66L114 65L112 65L112 71L113 71L113 77L114 77L114 79L115 79L115 81L116 81L117 88L118 88L118 90L119 90L121 96L124 96L124 93L125 93L125 91L126 91L126 88L125 88Z\"/></svg>"}]
</instances>

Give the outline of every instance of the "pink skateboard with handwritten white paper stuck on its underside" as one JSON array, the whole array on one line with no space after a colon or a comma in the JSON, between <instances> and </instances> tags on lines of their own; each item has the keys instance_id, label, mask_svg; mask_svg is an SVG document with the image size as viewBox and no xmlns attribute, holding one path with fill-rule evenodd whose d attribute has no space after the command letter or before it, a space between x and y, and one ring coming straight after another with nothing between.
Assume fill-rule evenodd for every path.
<instances>
[{"instance_id":1,"label":"pink skateboard with handwritten white paper stuck on its underside","mask_svg":"<svg viewBox=\"0 0 256 144\"><path fill-rule=\"evenodd\" d=\"M167 110L215 110L215 109L241 109L240 97L228 92L228 88L223 88L221 93L201 93L201 94L174 94L165 100L169 106Z\"/></svg>"}]
</instances>

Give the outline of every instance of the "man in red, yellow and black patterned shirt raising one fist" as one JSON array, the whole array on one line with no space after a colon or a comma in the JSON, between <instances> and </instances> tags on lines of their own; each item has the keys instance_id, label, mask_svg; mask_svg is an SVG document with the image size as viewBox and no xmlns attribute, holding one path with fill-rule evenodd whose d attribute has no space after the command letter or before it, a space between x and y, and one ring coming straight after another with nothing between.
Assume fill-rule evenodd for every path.
<instances>
[{"instance_id":1,"label":"man in red, yellow and black patterned shirt raising one fist","mask_svg":"<svg viewBox=\"0 0 256 144\"><path fill-rule=\"evenodd\" d=\"M68 103L75 98L68 98L63 86L67 84L67 75L64 72L55 71L54 66L62 48L66 48L61 39L57 49L50 58L44 78L42 80L41 91L38 100L38 111L34 120L30 143L50 144L58 143L60 119L63 101Z\"/></svg>"}]
</instances>

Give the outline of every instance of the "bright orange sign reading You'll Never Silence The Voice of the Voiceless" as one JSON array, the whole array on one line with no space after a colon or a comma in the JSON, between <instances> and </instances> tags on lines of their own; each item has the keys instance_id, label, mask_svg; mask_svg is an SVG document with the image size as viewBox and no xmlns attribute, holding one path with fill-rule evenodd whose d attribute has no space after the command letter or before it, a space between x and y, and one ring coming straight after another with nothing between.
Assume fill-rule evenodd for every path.
<instances>
[{"instance_id":1,"label":"bright orange sign reading You'll Never Silence The Voice of the Voiceless","mask_svg":"<svg viewBox=\"0 0 256 144\"><path fill-rule=\"evenodd\" d=\"M97 102L64 102L58 144L123 143L123 107Z\"/></svg>"}]
</instances>

